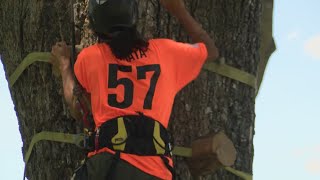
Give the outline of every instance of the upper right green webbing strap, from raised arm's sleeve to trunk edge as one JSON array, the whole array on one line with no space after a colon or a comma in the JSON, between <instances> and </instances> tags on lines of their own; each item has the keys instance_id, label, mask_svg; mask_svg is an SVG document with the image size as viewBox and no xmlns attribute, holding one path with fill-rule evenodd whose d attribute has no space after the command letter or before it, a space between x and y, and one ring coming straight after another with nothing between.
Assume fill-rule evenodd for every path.
<instances>
[{"instance_id":1,"label":"upper right green webbing strap, from raised arm's sleeve to trunk edge","mask_svg":"<svg viewBox=\"0 0 320 180\"><path fill-rule=\"evenodd\" d=\"M206 63L203 69L231 78L233 80L247 84L253 88L257 88L256 77L240 69L226 65L224 63Z\"/></svg>"}]
</instances>

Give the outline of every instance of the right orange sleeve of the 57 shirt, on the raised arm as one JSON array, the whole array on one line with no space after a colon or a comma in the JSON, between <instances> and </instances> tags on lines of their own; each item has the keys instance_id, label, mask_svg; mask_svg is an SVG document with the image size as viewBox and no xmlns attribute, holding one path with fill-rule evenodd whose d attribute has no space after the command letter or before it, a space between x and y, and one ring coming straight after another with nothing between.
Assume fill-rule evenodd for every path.
<instances>
[{"instance_id":1,"label":"right orange sleeve of the 57 shirt, on the raised arm","mask_svg":"<svg viewBox=\"0 0 320 180\"><path fill-rule=\"evenodd\" d=\"M201 68L207 59L208 53L204 43L188 44L173 40L162 40L162 50L159 50L160 58L171 64L171 71L174 71L176 88L179 91L200 73ZM161 57L163 55L163 57Z\"/></svg>"}]
</instances>

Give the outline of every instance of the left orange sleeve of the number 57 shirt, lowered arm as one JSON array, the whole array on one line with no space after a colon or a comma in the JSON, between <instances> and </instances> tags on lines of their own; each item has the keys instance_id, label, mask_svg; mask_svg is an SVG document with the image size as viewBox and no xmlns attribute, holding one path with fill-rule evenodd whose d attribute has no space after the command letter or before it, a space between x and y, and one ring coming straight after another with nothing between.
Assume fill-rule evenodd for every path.
<instances>
[{"instance_id":1,"label":"left orange sleeve of the number 57 shirt, lowered arm","mask_svg":"<svg viewBox=\"0 0 320 180\"><path fill-rule=\"evenodd\" d=\"M88 83L88 74L87 74L87 66L86 66L86 59L85 59L85 53L81 52L78 55L77 61L74 65L74 73L79 81L80 85L86 89L88 93L90 93L90 86Z\"/></svg>"}]
</instances>

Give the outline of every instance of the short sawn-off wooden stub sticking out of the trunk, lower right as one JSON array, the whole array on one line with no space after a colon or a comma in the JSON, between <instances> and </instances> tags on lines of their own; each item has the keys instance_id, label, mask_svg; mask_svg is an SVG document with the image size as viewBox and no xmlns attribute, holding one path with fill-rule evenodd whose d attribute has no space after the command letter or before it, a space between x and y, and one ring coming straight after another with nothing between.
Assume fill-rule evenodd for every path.
<instances>
[{"instance_id":1,"label":"short sawn-off wooden stub sticking out of the trunk, lower right","mask_svg":"<svg viewBox=\"0 0 320 180\"><path fill-rule=\"evenodd\" d=\"M201 176L223 166L232 166L236 154L232 141L223 132L195 140L192 143L192 158L188 161L191 174Z\"/></svg>"}]
</instances>

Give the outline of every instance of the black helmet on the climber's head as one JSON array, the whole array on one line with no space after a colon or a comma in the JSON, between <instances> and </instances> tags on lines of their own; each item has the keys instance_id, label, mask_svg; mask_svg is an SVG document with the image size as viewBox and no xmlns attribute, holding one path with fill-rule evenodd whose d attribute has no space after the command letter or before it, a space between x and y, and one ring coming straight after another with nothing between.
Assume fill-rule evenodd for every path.
<instances>
[{"instance_id":1,"label":"black helmet on the climber's head","mask_svg":"<svg viewBox=\"0 0 320 180\"><path fill-rule=\"evenodd\" d=\"M108 33L113 27L132 27L137 15L135 0L89 0L92 29Z\"/></svg>"}]
</instances>

